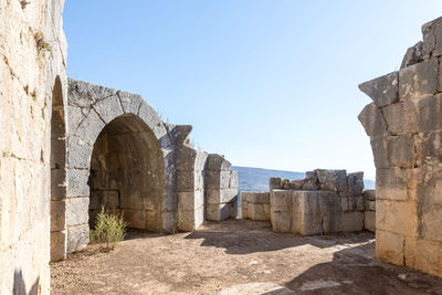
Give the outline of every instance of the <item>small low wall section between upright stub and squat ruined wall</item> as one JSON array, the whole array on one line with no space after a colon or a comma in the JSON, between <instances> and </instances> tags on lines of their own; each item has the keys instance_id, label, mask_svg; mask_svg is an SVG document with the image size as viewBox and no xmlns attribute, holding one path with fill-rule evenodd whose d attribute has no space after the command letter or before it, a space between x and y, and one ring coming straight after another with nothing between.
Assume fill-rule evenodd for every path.
<instances>
[{"instance_id":1,"label":"small low wall section between upright stub and squat ruined wall","mask_svg":"<svg viewBox=\"0 0 442 295\"><path fill-rule=\"evenodd\" d=\"M241 192L241 218L270 221L270 192Z\"/></svg>"}]
</instances>

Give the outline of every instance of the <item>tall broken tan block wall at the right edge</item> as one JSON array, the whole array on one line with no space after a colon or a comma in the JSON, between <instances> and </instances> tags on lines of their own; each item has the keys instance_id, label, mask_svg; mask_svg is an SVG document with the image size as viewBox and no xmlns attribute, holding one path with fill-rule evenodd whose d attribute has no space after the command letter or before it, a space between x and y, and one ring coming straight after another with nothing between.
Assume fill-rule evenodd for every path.
<instances>
[{"instance_id":1,"label":"tall broken tan block wall at the right edge","mask_svg":"<svg viewBox=\"0 0 442 295\"><path fill-rule=\"evenodd\" d=\"M442 19L402 67L361 84L359 115L375 156L377 257L442 276Z\"/></svg>"}]
</instances>

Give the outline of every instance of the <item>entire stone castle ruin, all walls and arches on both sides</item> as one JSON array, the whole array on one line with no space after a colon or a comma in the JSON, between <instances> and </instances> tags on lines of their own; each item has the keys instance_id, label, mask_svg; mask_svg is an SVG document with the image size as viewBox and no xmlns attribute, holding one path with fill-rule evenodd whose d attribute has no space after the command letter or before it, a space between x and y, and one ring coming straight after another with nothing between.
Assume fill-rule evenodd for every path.
<instances>
[{"instance_id":1,"label":"entire stone castle ruin, all walls and arches on both sides","mask_svg":"<svg viewBox=\"0 0 442 295\"><path fill-rule=\"evenodd\" d=\"M66 77L63 6L0 3L6 294L48 294L49 262L87 244L102 206L155 232L238 215L238 175L190 147L191 126L162 122L139 95ZM376 202L360 173L315 170L243 193L244 218L298 234L376 230L377 257L442 276L442 19L422 31L400 71L360 85L373 99L359 119L375 155Z\"/></svg>"}]
</instances>

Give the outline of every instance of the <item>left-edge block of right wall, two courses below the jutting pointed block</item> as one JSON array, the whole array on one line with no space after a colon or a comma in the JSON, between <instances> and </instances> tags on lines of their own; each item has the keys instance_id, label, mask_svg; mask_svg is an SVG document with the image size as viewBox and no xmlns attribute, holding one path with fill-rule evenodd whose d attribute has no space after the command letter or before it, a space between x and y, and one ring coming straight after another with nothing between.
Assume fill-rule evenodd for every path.
<instances>
[{"instance_id":1,"label":"left-edge block of right wall, two courses below the jutting pointed block","mask_svg":"<svg viewBox=\"0 0 442 295\"><path fill-rule=\"evenodd\" d=\"M411 135L382 136L371 139L376 168L412 168L417 161Z\"/></svg>"}]
</instances>

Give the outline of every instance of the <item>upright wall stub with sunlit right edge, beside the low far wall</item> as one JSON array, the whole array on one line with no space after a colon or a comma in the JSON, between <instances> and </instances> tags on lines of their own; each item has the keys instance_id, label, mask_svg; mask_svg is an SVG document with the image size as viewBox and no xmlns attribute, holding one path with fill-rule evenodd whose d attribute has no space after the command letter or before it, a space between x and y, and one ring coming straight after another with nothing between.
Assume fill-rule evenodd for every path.
<instances>
[{"instance_id":1,"label":"upright wall stub with sunlit right edge, beside the low far wall","mask_svg":"<svg viewBox=\"0 0 442 295\"><path fill-rule=\"evenodd\" d=\"M238 172L220 155L210 154L204 169L206 220L221 221L238 215Z\"/></svg>"}]
</instances>

